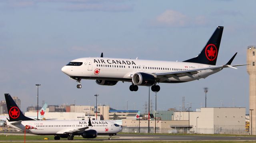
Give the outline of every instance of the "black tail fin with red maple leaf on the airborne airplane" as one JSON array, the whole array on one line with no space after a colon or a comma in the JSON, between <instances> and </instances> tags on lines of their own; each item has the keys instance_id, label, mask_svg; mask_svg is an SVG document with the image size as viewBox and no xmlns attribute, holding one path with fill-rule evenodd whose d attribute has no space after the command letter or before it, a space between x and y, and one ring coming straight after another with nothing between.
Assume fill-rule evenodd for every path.
<instances>
[{"instance_id":1,"label":"black tail fin with red maple leaf on the airborne airplane","mask_svg":"<svg viewBox=\"0 0 256 143\"><path fill-rule=\"evenodd\" d=\"M223 26L218 26L216 28L212 34L212 37L209 39L209 41L204 46L204 49L199 53L197 57L188 59L183 62L216 65L223 28Z\"/></svg>"}]
</instances>

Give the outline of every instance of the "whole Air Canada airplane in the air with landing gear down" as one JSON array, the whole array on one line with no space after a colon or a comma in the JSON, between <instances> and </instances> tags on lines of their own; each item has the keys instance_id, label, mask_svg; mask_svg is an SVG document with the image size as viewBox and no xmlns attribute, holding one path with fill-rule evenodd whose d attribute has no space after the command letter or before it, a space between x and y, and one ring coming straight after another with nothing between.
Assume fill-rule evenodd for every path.
<instances>
[{"instance_id":1,"label":"whole Air Canada airplane in the air with landing gear down","mask_svg":"<svg viewBox=\"0 0 256 143\"><path fill-rule=\"evenodd\" d=\"M92 79L108 86L118 81L132 82L130 91L137 91L138 86L151 86L153 92L158 92L157 83L189 82L206 78L223 68L242 66L231 65L237 53L225 65L216 66L223 28L216 28L197 57L183 62L104 58L102 54L72 60L61 70L78 82L77 88L82 88L82 79Z\"/></svg>"}]
</instances>

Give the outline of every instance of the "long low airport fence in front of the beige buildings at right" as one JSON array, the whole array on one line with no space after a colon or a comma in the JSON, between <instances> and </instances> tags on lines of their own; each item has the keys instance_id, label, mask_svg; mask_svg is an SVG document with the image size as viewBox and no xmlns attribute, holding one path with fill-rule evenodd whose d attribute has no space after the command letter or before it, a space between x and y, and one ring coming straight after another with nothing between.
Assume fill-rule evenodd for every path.
<instances>
[{"instance_id":1,"label":"long low airport fence in front of the beige buildings at right","mask_svg":"<svg viewBox=\"0 0 256 143\"><path fill-rule=\"evenodd\" d=\"M139 127L123 127L123 133L139 133ZM140 127L140 133L148 133L148 127ZM154 127L150 127L150 133L155 133ZM156 128L156 133L198 133L198 134L236 134L236 135L249 135L250 132L246 129L222 129L222 128L198 128L198 129L159 129Z\"/></svg>"}]
</instances>

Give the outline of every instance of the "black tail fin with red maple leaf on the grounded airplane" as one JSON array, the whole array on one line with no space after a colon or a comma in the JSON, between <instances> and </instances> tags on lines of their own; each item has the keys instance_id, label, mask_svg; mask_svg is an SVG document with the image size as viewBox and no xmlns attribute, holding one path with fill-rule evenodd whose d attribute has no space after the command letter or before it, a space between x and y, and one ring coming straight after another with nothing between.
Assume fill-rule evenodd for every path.
<instances>
[{"instance_id":1,"label":"black tail fin with red maple leaf on the grounded airplane","mask_svg":"<svg viewBox=\"0 0 256 143\"><path fill-rule=\"evenodd\" d=\"M34 120L24 116L24 114L20 111L20 108L18 108L17 104L14 102L10 94L4 94L4 96L5 96L5 101L6 101L10 121Z\"/></svg>"}]
</instances>

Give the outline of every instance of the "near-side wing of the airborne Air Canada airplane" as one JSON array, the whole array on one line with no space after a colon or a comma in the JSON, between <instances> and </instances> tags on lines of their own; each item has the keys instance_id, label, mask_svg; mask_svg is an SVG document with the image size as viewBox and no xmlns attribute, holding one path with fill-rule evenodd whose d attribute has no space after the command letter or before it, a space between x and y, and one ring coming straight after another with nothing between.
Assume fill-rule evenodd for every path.
<instances>
[{"instance_id":1,"label":"near-side wing of the airborne Air Canada airplane","mask_svg":"<svg viewBox=\"0 0 256 143\"><path fill-rule=\"evenodd\" d=\"M244 65L248 65L248 64L244 64ZM197 74L199 71L223 69L227 67L237 69L235 67L238 67L238 66L243 66L243 65L222 65L222 66L205 67L205 68L185 70L185 71L156 72L153 74L156 75L156 78L158 78L159 81L165 81L165 80L170 81L168 78L171 78L171 77L173 77L176 80L180 80L180 77L183 77L183 76L189 76L191 78L194 78L193 75Z\"/></svg>"}]
</instances>

